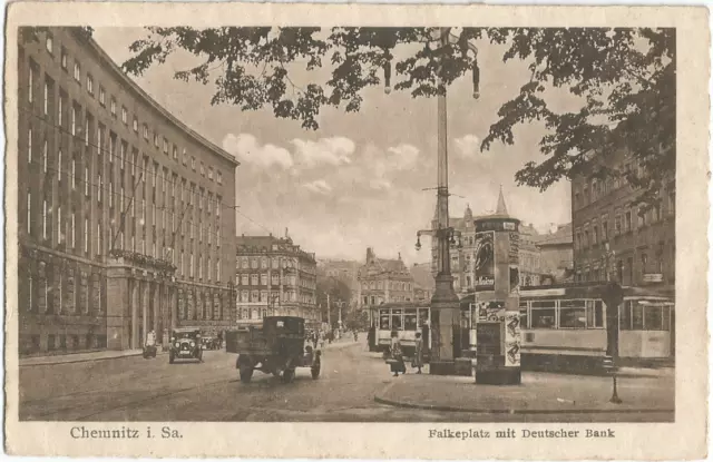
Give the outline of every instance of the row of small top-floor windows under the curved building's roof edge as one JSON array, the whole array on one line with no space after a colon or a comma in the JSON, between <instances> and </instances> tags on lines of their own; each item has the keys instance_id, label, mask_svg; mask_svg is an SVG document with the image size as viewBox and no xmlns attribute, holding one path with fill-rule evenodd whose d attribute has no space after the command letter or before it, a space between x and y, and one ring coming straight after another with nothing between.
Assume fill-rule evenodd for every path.
<instances>
[{"instance_id":1,"label":"row of small top-floor windows under the curved building's roof edge","mask_svg":"<svg viewBox=\"0 0 713 462\"><path fill-rule=\"evenodd\" d=\"M53 57L55 56L55 40L53 40L53 36L51 35L51 32L48 32L46 35L46 48L47 51ZM65 47L61 47L61 55L60 55L60 65L61 68L67 71L68 70L68 61L69 61L69 56L68 56L68 51ZM30 70L29 70L29 82L28 82L28 100L29 102L33 102L33 89L36 87L36 79L37 79L37 75L39 73L39 66L37 66L37 63L35 63L33 61L30 61ZM72 77L75 79L75 81L79 85L81 85L81 63L79 62L79 60L75 59L74 62L74 69L72 69ZM91 97L95 96L95 80L94 77L91 76L91 73L87 72L87 77L86 77L86 90L87 94L89 94ZM47 106L48 106L48 86L46 83L45 86L45 114L48 114L47 110ZM106 108L106 102L107 102L107 95L106 95L106 90L105 88L99 85L99 105L101 105L101 107ZM117 107L118 107L118 102L116 100L116 97L111 97L110 98L110 102L109 102L109 111L111 114L111 117L117 118ZM121 122L126 126L128 126L128 120L129 120L129 116L128 116L128 109L126 106L121 106ZM133 116L131 119L131 128L134 130L134 132L138 134L139 131L139 120L138 117L135 115ZM154 129L154 147L156 149L159 149L159 134L158 130ZM146 141L149 140L149 129L148 129L148 125L147 124L143 124L143 136L144 139ZM169 145L170 142L168 141L168 139L166 137L163 137L163 151L165 155L168 155L169 151ZM178 147L177 145L173 145L173 159L175 161L178 161ZM188 163L188 155L186 153L186 149L183 149L183 165L187 166ZM196 157L195 156L191 156L191 168L196 171ZM206 176L206 168L204 163L201 163L201 175L202 176ZM217 168L215 169L215 175L214 175L214 168L212 166L208 166L207 168L207 177L209 180L215 180L218 184L223 184L223 173L219 171Z\"/></svg>"}]
</instances>

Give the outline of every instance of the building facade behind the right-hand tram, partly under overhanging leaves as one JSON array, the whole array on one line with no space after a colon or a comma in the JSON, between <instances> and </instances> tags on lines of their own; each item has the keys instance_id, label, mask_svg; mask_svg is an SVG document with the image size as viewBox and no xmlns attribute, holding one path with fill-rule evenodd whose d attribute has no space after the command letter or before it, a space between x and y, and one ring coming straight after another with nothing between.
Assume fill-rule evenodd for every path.
<instances>
[{"instance_id":1,"label":"building facade behind the right-hand tram, partly under overhanging leaves","mask_svg":"<svg viewBox=\"0 0 713 462\"><path fill-rule=\"evenodd\" d=\"M636 175L639 166L619 151L605 163ZM572 183L574 265L577 282L606 281L609 272L623 286L649 286L673 294L675 285L675 201L672 177L648 210L633 205L638 191L625 177L578 177ZM609 247L607 256L606 244Z\"/></svg>"}]
</instances>

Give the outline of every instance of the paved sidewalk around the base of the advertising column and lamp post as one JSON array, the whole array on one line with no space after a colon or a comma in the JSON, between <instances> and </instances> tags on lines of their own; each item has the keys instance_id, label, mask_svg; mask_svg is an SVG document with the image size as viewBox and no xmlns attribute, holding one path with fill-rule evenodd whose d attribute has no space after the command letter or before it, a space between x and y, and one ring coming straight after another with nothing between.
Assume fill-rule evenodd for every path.
<instances>
[{"instance_id":1,"label":"paved sidewalk around the base of the advertising column and lamp post","mask_svg":"<svg viewBox=\"0 0 713 462\"><path fill-rule=\"evenodd\" d=\"M617 383L622 404L609 403L612 382L611 377L524 372L521 385L478 385L473 377L428 375L426 371L417 375L409 368L408 374L391 377L374 401L399 407L491 414L674 410L673 370L662 371L657 376L622 376Z\"/></svg>"}]
</instances>

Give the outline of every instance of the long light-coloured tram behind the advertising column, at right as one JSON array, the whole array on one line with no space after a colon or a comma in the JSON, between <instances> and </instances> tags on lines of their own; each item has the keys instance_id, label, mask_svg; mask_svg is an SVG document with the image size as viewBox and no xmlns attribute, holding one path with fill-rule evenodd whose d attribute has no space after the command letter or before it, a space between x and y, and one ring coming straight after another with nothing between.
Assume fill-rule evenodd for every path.
<instances>
[{"instance_id":1,"label":"long light-coloured tram behind the advertising column, at right","mask_svg":"<svg viewBox=\"0 0 713 462\"><path fill-rule=\"evenodd\" d=\"M607 323L606 286L600 284L526 287L519 312L522 368L599 370L607 356L607 326L616 328L618 357L657 361L675 354L675 311L672 297L637 287L622 287L618 316ZM473 343L478 303L461 299L462 335ZM461 345L463 348L467 345Z\"/></svg>"}]
</instances>

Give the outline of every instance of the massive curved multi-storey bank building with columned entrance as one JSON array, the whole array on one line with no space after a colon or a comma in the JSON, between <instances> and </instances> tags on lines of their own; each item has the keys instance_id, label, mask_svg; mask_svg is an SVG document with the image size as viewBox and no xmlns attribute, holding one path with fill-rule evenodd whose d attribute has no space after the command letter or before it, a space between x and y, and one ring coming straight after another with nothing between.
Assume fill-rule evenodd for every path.
<instances>
[{"instance_id":1,"label":"massive curved multi-storey bank building with columned entrance","mask_svg":"<svg viewBox=\"0 0 713 462\"><path fill-rule=\"evenodd\" d=\"M235 158L84 28L22 30L18 57L20 354L228 326Z\"/></svg>"}]
</instances>

